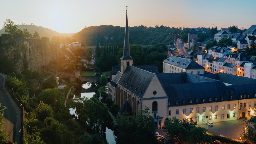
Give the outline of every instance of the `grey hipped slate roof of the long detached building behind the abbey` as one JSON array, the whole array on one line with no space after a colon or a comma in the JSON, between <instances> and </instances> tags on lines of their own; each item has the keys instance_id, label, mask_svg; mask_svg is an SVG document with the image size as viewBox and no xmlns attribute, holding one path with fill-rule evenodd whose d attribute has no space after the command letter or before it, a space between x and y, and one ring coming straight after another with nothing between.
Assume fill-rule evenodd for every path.
<instances>
[{"instance_id":1,"label":"grey hipped slate roof of the long detached building behind the abbey","mask_svg":"<svg viewBox=\"0 0 256 144\"><path fill-rule=\"evenodd\" d=\"M182 67L183 69L205 69L195 61L191 59L181 58L181 57L171 56L165 59L163 62L169 63L171 65L175 65L178 67Z\"/></svg>"}]
</instances>

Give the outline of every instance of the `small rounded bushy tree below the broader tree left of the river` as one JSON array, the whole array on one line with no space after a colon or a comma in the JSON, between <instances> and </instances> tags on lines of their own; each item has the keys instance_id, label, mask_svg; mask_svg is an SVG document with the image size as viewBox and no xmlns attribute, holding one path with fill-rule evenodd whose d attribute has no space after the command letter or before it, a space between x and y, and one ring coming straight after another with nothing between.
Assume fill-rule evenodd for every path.
<instances>
[{"instance_id":1,"label":"small rounded bushy tree below the broader tree left of the river","mask_svg":"<svg viewBox=\"0 0 256 144\"><path fill-rule=\"evenodd\" d=\"M51 108L51 106L41 101L36 109L36 113L37 113L37 118L40 121L44 121L45 118L47 117L53 117L53 109Z\"/></svg>"}]
</instances>

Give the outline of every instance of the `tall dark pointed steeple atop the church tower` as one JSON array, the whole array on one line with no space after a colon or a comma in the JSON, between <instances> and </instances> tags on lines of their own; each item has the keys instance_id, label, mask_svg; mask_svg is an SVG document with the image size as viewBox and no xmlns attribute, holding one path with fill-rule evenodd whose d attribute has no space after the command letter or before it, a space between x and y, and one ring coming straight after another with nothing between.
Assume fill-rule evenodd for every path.
<instances>
[{"instance_id":1,"label":"tall dark pointed steeple atop the church tower","mask_svg":"<svg viewBox=\"0 0 256 144\"><path fill-rule=\"evenodd\" d=\"M129 44L129 30L128 30L128 17L126 10L126 24L125 24L125 41L123 44L123 57L121 59L133 59L130 56L130 44Z\"/></svg>"}]
</instances>

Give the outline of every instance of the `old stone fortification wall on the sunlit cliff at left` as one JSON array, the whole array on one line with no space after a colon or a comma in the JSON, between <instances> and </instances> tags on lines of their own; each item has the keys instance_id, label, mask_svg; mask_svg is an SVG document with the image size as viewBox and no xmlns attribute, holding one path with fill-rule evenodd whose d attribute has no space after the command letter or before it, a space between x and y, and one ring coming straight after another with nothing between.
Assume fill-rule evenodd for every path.
<instances>
[{"instance_id":1,"label":"old stone fortification wall on the sunlit cliff at left","mask_svg":"<svg viewBox=\"0 0 256 144\"><path fill-rule=\"evenodd\" d=\"M26 39L22 35L2 34L0 56L12 60L14 69L20 73L24 69L39 71L42 66L57 59L59 45L49 42L49 38Z\"/></svg>"}]
</instances>

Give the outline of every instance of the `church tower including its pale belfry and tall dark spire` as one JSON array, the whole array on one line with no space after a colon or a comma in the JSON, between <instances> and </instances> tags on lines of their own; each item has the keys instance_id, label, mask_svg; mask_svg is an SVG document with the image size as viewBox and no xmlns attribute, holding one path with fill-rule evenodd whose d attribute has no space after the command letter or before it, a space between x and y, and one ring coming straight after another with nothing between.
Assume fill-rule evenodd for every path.
<instances>
[{"instance_id":1,"label":"church tower including its pale belfry and tall dark spire","mask_svg":"<svg viewBox=\"0 0 256 144\"><path fill-rule=\"evenodd\" d=\"M125 42L123 44L123 56L120 58L120 61L121 61L121 75L122 75L127 66L133 65L133 58L130 56L127 10L126 10L126 24L125 24Z\"/></svg>"}]
</instances>

